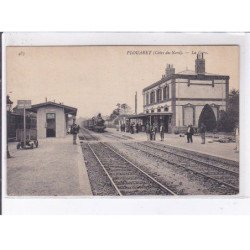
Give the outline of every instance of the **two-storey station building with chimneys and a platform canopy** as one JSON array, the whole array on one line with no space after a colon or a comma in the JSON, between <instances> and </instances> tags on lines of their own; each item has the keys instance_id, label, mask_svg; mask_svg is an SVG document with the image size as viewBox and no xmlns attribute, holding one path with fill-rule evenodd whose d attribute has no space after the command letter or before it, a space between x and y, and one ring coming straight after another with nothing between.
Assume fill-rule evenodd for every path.
<instances>
[{"instance_id":1,"label":"two-storey station building with chimneys and a platform canopy","mask_svg":"<svg viewBox=\"0 0 250 250\"><path fill-rule=\"evenodd\" d=\"M165 132L186 131L188 125L199 127L204 113L214 115L226 110L229 96L229 76L207 73L203 53L197 54L195 70L176 73L167 64L162 78L143 89L143 113L130 119L141 119L160 126ZM201 115L203 113L203 115Z\"/></svg>"}]
</instances>

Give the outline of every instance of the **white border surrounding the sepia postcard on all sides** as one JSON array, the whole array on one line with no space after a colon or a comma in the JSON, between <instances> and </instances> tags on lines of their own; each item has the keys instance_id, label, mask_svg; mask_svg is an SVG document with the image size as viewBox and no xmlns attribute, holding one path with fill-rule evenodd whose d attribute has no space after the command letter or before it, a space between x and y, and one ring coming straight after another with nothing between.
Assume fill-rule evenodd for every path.
<instances>
[{"instance_id":1,"label":"white border surrounding the sepia postcard on all sides","mask_svg":"<svg viewBox=\"0 0 250 250\"><path fill-rule=\"evenodd\" d=\"M2 37L2 212L4 214L248 214L250 211L250 38L247 33L4 33ZM6 46L239 45L240 195L176 198L6 196Z\"/></svg>"}]
</instances>

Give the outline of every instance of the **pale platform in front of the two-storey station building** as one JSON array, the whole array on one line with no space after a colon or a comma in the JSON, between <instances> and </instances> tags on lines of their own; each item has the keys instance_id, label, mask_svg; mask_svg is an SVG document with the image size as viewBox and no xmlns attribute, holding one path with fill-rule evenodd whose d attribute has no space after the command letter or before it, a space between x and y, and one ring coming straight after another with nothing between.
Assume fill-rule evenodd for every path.
<instances>
[{"instance_id":1,"label":"pale platform in front of the two-storey station building","mask_svg":"<svg viewBox=\"0 0 250 250\"><path fill-rule=\"evenodd\" d=\"M141 132L138 134L131 134L131 133L120 132L112 128L107 128L106 130L112 133L118 133L130 136L138 141L147 140L147 135L145 132ZM186 150L199 152L202 154L207 154L210 156L220 157L223 159L239 161L239 153L236 153L234 150L234 148L236 147L235 143L220 143L220 142L209 143L209 141L212 141L212 138L209 137L206 138L206 144L201 144L200 136L193 136L193 143L187 143L186 136L180 137L180 135L165 134L164 141L161 142L160 134L159 133L156 134L157 143L168 144L170 146L179 147Z\"/></svg>"}]
</instances>

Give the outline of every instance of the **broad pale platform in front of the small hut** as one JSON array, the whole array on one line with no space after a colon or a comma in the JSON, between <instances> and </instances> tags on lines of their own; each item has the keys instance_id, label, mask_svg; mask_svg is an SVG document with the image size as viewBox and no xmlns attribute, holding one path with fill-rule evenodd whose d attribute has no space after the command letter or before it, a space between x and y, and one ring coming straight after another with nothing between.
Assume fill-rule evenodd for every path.
<instances>
[{"instance_id":1,"label":"broad pale platform in front of the small hut","mask_svg":"<svg viewBox=\"0 0 250 250\"><path fill-rule=\"evenodd\" d=\"M17 150L7 160L7 194L10 196L92 195L81 146L72 136L39 140L35 149Z\"/></svg>"}]
</instances>

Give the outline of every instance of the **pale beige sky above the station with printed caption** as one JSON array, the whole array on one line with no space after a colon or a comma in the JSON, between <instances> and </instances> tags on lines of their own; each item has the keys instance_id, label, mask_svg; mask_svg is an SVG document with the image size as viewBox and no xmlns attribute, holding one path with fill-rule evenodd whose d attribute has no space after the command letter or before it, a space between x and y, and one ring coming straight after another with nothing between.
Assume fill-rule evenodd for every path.
<instances>
[{"instance_id":1,"label":"pale beige sky above the station with printed caption","mask_svg":"<svg viewBox=\"0 0 250 250\"><path fill-rule=\"evenodd\" d=\"M161 79L166 64L194 70L204 52L206 72L229 75L239 89L238 46L49 46L7 47L7 93L32 104L54 101L78 109L78 117L109 115L117 103L143 111L142 89Z\"/></svg>"}]
</instances>

